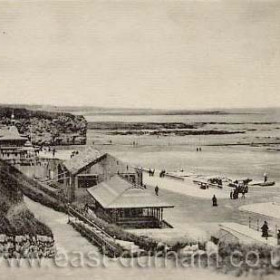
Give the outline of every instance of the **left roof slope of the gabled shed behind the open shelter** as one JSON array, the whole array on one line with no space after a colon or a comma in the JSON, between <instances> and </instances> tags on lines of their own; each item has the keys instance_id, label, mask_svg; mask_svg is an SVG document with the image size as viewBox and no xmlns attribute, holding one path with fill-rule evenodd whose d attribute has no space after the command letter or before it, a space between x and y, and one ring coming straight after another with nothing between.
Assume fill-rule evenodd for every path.
<instances>
[{"instance_id":1,"label":"left roof slope of the gabled shed behind the open shelter","mask_svg":"<svg viewBox=\"0 0 280 280\"><path fill-rule=\"evenodd\" d=\"M88 147L83 151L80 151L77 155L71 159L65 161L63 165L72 174L77 174L84 167L91 163L97 162L101 157L105 156L106 153L100 152L93 147Z\"/></svg>"}]
</instances>

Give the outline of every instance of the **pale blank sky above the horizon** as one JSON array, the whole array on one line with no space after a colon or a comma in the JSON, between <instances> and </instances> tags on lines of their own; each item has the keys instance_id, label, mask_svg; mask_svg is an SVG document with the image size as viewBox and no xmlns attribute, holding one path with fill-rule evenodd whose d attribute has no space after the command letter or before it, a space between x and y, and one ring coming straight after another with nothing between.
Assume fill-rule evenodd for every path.
<instances>
[{"instance_id":1,"label":"pale blank sky above the horizon","mask_svg":"<svg viewBox=\"0 0 280 280\"><path fill-rule=\"evenodd\" d=\"M1 1L0 103L280 106L280 1Z\"/></svg>"}]
</instances>

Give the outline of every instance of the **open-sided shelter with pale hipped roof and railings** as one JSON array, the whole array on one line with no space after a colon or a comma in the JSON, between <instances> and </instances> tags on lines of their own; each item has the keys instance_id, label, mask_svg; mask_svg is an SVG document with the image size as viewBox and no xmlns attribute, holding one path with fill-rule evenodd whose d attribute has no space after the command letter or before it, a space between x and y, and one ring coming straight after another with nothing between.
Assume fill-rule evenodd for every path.
<instances>
[{"instance_id":1,"label":"open-sided shelter with pale hipped roof and railings","mask_svg":"<svg viewBox=\"0 0 280 280\"><path fill-rule=\"evenodd\" d=\"M95 213L110 223L132 228L170 227L163 220L163 210L174 206L119 175L87 191L93 198Z\"/></svg>"}]
</instances>

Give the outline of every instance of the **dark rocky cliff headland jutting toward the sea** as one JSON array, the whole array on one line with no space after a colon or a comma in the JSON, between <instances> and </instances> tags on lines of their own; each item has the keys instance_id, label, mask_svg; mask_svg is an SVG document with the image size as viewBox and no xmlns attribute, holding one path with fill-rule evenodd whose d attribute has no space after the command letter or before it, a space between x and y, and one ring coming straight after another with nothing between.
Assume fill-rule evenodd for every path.
<instances>
[{"instance_id":1,"label":"dark rocky cliff headland jutting toward the sea","mask_svg":"<svg viewBox=\"0 0 280 280\"><path fill-rule=\"evenodd\" d=\"M17 106L0 106L0 125L14 123L37 145L84 145L87 122L83 116L64 112L30 110Z\"/></svg>"}]
</instances>

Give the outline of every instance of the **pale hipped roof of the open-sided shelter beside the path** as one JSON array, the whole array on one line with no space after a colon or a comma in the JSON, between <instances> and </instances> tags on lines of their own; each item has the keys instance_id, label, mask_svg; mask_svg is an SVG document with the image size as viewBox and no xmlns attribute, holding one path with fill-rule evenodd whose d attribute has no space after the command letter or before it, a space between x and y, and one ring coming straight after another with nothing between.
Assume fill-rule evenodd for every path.
<instances>
[{"instance_id":1,"label":"pale hipped roof of the open-sided shelter beside the path","mask_svg":"<svg viewBox=\"0 0 280 280\"><path fill-rule=\"evenodd\" d=\"M162 201L149 191L137 188L119 175L87 189L103 208L171 208L172 205Z\"/></svg>"}]
</instances>

